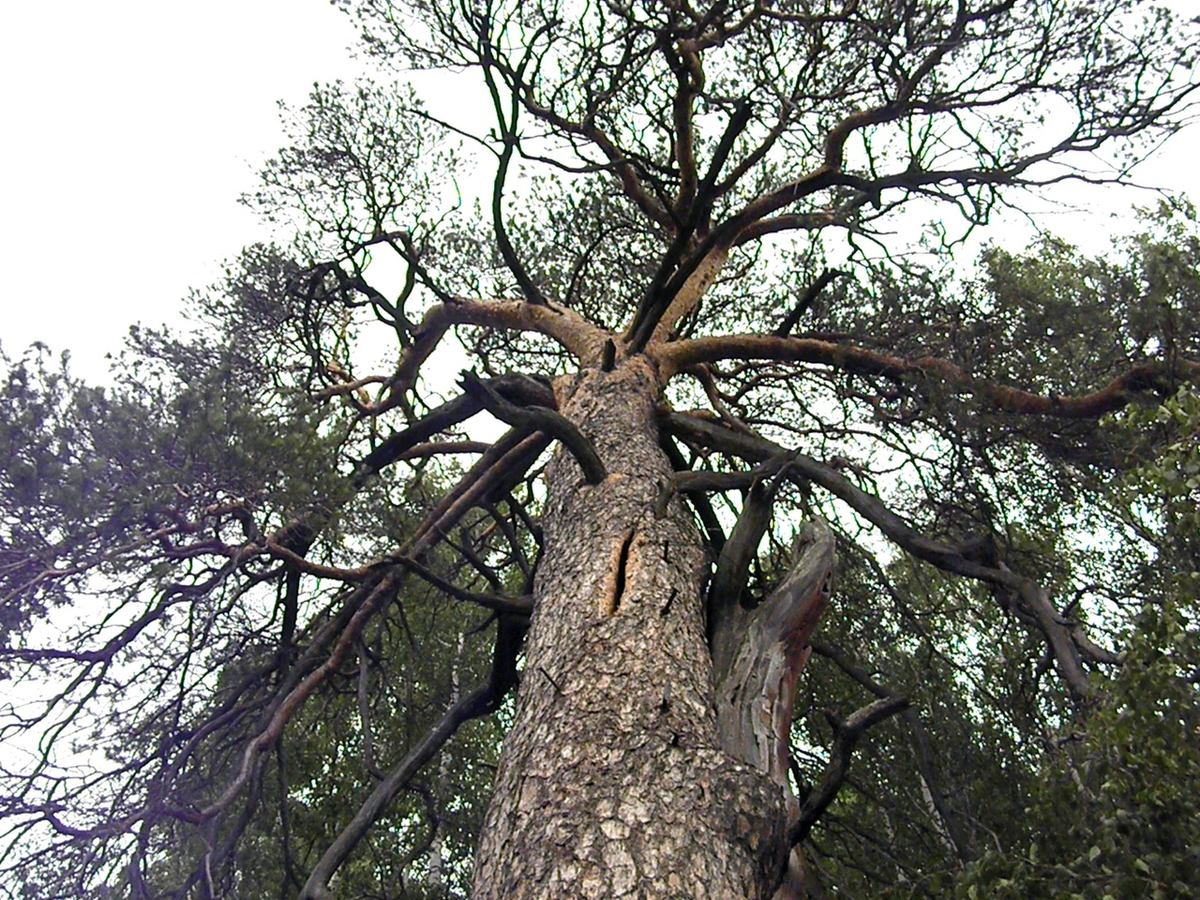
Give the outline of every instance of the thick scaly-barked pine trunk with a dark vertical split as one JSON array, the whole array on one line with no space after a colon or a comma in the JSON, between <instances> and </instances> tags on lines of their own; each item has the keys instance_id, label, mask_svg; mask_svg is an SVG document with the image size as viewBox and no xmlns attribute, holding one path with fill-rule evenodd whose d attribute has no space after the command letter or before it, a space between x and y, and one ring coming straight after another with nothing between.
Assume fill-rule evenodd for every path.
<instances>
[{"instance_id":1,"label":"thick scaly-barked pine trunk with a dark vertical split","mask_svg":"<svg viewBox=\"0 0 1200 900\"><path fill-rule=\"evenodd\" d=\"M589 370L562 412L608 478L559 452L516 716L476 850L476 900L766 898L787 811L721 749L706 560L670 493L650 365Z\"/></svg>"}]
</instances>

